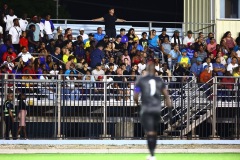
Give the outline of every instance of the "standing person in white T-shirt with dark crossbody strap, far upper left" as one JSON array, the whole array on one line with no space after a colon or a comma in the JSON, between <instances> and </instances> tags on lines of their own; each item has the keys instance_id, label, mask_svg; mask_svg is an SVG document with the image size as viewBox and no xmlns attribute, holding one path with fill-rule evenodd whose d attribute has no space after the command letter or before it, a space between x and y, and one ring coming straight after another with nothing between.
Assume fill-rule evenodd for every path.
<instances>
[{"instance_id":1,"label":"standing person in white T-shirt with dark crossbody strap, far upper left","mask_svg":"<svg viewBox=\"0 0 240 160\"><path fill-rule=\"evenodd\" d=\"M20 50L19 40L20 36L22 35L22 30L19 27L19 20L17 18L13 20L13 23L14 23L13 27L9 29L9 35L16 53L19 53Z\"/></svg>"}]
</instances>

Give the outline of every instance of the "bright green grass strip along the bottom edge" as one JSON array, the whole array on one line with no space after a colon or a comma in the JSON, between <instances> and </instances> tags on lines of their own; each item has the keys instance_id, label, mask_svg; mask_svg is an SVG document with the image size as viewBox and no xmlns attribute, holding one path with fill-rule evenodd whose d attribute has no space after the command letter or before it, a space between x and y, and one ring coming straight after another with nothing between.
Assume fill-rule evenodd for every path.
<instances>
[{"instance_id":1,"label":"bright green grass strip along the bottom edge","mask_svg":"<svg viewBox=\"0 0 240 160\"><path fill-rule=\"evenodd\" d=\"M0 160L145 160L147 154L0 154ZM240 153L156 154L157 160L240 160Z\"/></svg>"}]
</instances>

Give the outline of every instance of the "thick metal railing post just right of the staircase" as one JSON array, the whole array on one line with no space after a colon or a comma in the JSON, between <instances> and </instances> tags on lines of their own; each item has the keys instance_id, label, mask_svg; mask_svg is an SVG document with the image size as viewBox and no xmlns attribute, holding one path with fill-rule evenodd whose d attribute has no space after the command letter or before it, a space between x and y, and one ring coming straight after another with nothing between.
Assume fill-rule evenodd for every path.
<instances>
[{"instance_id":1,"label":"thick metal railing post just right of the staircase","mask_svg":"<svg viewBox=\"0 0 240 160\"><path fill-rule=\"evenodd\" d=\"M213 77L212 138L216 138L217 77Z\"/></svg>"}]
</instances>

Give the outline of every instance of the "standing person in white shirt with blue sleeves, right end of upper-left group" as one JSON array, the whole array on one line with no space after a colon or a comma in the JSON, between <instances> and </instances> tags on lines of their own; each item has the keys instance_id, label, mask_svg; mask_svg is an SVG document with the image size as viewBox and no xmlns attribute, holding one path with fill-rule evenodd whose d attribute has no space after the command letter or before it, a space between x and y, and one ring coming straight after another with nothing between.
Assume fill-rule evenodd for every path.
<instances>
[{"instance_id":1,"label":"standing person in white shirt with blue sleeves, right end of upper-left group","mask_svg":"<svg viewBox=\"0 0 240 160\"><path fill-rule=\"evenodd\" d=\"M53 31L54 31L54 25L50 19L51 19L51 15L47 14L45 19L41 20L41 23L44 24L44 31L48 35L48 39L53 38Z\"/></svg>"}]
</instances>

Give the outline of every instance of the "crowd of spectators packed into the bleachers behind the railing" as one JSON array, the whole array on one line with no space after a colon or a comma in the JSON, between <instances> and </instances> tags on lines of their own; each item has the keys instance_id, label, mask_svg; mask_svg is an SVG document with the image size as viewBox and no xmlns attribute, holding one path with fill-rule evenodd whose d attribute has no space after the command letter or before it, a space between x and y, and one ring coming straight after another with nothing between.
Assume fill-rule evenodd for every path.
<instances>
[{"instance_id":1,"label":"crowd of spectators packed into the bleachers behind the railing","mask_svg":"<svg viewBox=\"0 0 240 160\"><path fill-rule=\"evenodd\" d=\"M119 35L110 38L98 27L96 33L89 34L79 28L79 35L73 37L71 28L56 28L51 15L35 15L27 20L27 14L19 18L7 4L1 15L1 73L13 73L20 79L49 79L63 74L68 80L94 82L107 75L109 82L129 82L127 86L113 83L112 87L120 88L118 93L122 94L122 88L131 88L135 76L145 73L150 61L155 63L157 76L168 76L165 81L171 81L172 75L195 76L202 83L213 76L240 76L240 33L232 37L227 31L217 42L214 33L204 35L189 30L180 37L178 30L167 35L167 29L162 28L160 35L153 29L139 37L134 28L121 28ZM32 90L29 84L24 85ZM66 99L79 99L75 96L79 91L72 85L76 87L69 83L63 91L70 95ZM92 88L92 84L82 86L84 93ZM94 92L102 92L98 83L94 88ZM41 92L55 91L48 86Z\"/></svg>"}]
</instances>

